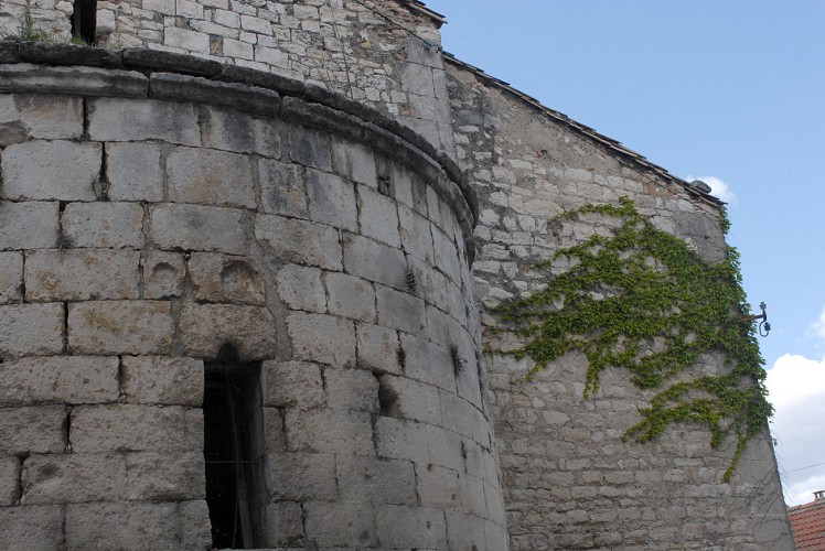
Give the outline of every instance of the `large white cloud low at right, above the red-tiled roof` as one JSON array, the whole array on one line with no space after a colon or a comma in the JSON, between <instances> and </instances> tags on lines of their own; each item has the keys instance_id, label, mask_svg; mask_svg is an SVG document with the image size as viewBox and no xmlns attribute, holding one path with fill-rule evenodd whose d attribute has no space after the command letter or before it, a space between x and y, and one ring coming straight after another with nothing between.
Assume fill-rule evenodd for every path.
<instances>
[{"instance_id":1,"label":"large white cloud low at right, above the red-tiled roof","mask_svg":"<svg viewBox=\"0 0 825 551\"><path fill-rule=\"evenodd\" d=\"M785 500L812 501L825 489L825 360L785 354L768 370L765 386Z\"/></svg>"}]
</instances>

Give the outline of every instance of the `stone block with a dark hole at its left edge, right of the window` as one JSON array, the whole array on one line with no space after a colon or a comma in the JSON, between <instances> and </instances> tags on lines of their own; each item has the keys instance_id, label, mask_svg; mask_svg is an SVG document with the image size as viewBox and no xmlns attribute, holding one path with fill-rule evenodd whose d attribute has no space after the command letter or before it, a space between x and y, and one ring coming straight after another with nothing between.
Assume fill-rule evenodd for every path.
<instances>
[{"instance_id":1,"label":"stone block with a dark hole at its left edge, right of the window","mask_svg":"<svg viewBox=\"0 0 825 551\"><path fill-rule=\"evenodd\" d=\"M385 375L381 378L379 392L382 413L387 417L430 424L441 423L437 387L403 377Z\"/></svg>"}]
</instances>

